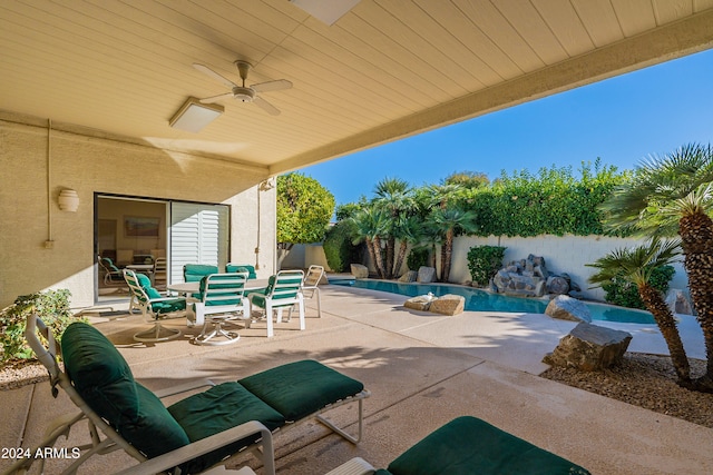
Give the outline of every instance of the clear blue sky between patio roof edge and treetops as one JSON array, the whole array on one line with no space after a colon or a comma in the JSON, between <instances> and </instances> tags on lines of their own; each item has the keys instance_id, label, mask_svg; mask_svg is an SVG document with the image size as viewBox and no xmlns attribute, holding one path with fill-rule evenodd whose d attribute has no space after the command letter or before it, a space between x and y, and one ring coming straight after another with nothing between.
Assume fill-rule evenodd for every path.
<instances>
[{"instance_id":1,"label":"clear blue sky between patio roof edge and treetops","mask_svg":"<svg viewBox=\"0 0 713 475\"><path fill-rule=\"evenodd\" d=\"M439 184L455 171L512 174L602 158L619 170L649 155L713 142L713 51L704 51L300 171L338 205L390 177Z\"/></svg>"}]
</instances>

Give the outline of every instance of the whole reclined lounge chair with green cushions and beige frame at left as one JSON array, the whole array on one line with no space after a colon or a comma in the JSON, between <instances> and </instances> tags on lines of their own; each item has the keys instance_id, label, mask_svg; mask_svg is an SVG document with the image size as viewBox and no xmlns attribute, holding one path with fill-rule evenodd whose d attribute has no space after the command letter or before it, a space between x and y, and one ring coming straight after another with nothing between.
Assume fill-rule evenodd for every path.
<instances>
[{"instance_id":1,"label":"whole reclined lounge chair with green cushions and beige frame at left","mask_svg":"<svg viewBox=\"0 0 713 475\"><path fill-rule=\"evenodd\" d=\"M203 473L250 451L262 461L262 473L274 475L272 433L312 417L352 443L361 438L362 402L369 392L360 382L314 360L290 363L217 386L203 379L153 393L134 379L121 354L91 325L77 321L65 330L65 372L57 362L56 339L39 317L28 317L26 338L50 374L52 394L61 387L80 409L50 423L46 438L27 453L41 454L38 447L59 451L57 445L71 427L88 424L90 442L69 448L78 448L80 455L67 461L62 474L75 473L89 457L123 449L138 465L121 474ZM208 389L195 393L202 386ZM170 406L162 402L187 392L194 394ZM321 416L352 403L359 404L356 437ZM36 457L18 461L7 473L26 473L35 463L42 465L42 457Z\"/></svg>"}]
</instances>

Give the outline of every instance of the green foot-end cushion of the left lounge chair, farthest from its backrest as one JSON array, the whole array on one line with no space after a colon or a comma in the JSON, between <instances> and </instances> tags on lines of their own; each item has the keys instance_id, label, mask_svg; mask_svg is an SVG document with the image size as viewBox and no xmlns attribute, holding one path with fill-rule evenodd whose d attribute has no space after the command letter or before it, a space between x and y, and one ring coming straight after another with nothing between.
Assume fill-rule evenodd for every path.
<instances>
[{"instance_id":1,"label":"green foot-end cushion of the left lounge chair, farthest from its backrest","mask_svg":"<svg viewBox=\"0 0 713 475\"><path fill-rule=\"evenodd\" d=\"M364 388L356 379L311 359L277 366L238 383L290 422L354 396Z\"/></svg>"}]
</instances>

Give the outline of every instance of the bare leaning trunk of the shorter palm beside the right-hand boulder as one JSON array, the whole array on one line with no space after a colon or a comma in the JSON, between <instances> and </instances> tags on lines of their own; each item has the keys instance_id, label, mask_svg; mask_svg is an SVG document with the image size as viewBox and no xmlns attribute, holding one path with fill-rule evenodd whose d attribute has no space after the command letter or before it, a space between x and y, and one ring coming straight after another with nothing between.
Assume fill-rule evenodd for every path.
<instances>
[{"instance_id":1,"label":"bare leaning trunk of the shorter palm beside the right-hand boulder","mask_svg":"<svg viewBox=\"0 0 713 475\"><path fill-rule=\"evenodd\" d=\"M685 388L692 388L691 382L691 368L688 366L688 358L686 357L686 350L681 342L681 335L676 327L676 320L671 313L671 309L663 299L661 293L648 284L642 284L638 286L638 295L642 297L642 301L646 305L648 311L652 313L658 325L658 329L666 340L668 346L668 353L671 354L671 362L678 376L678 386Z\"/></svg>"}]
</instances>

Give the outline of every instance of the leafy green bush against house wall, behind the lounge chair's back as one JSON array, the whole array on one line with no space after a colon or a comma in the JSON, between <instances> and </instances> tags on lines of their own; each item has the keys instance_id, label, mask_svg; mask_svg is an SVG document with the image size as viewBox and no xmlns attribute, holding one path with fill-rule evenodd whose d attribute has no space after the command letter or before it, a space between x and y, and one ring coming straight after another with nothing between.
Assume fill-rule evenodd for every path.
<instances>
[{"instance_id":1,"label":"leafy green bush against house wall, behind the lounge chair's back","mask_svg":"<svg viewBox=\"0 0 713 475\"><path fill-rule=\"evenodd\" d=\"M65 328L78 320L69 309L69 296L68 289L21 295L0 311L0 366L33 357L25 339L26 323L33 313L51 329L59 344Z\"/></svg>"}]
</instances>

